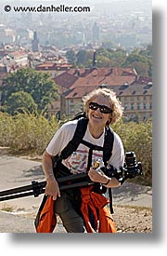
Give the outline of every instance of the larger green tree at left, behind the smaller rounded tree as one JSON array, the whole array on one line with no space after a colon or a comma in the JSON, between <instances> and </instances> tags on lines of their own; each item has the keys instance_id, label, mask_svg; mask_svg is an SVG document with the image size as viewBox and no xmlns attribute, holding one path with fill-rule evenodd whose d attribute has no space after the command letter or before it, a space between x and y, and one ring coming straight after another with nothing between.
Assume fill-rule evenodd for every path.
<instances>
[{"instance_id":1,"label":"larger green tree at left, behind the smaller rounded tree","mask_svg":"<svg viewBox=\"0 0 167 256\"><path fill-rule=\"evenodd\" d=\"M58 99L58 88L49 74L39 73L31 68L22 68L16 73L8 74L3 80L1 91L2 105L5 105L7 99L14 92L29 93L37 104L39 112L46 110L53 98Z\"/></svg>"}]
</instances>

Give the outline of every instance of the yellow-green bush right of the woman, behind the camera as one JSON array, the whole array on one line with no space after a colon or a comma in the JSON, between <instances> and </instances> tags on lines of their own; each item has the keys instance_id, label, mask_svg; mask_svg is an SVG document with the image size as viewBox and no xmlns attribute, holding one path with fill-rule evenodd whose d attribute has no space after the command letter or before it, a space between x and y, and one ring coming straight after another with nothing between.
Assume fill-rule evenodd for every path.
<instances>
[{"instance_id":1,"label":"yellow-green bush right of the woman, behind the camera","mask_svg":"<svg viewBox=\"0 0 167 256\"><path fill-rule=\"evenodd\" d=\"M135 151L137 162L142 163L144 179L152 179L152 121L122 123L113 126L120 135L125 152Z\"/></svg>"}]
</instances>

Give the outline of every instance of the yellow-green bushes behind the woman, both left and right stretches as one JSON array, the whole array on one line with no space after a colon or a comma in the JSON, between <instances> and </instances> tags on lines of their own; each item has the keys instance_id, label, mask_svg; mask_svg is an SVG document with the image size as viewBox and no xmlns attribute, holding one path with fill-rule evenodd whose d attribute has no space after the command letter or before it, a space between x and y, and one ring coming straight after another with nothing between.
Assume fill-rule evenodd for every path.
<instances>
[{"instance_id":1,"label":"yellow-green bushes behind the woman, both left and right stretches","mask_svg":"<svg viewBox=\"0 0 167 256\"><path fill-rule=\"evenodd\" d=\"M55 117L49 120L44 115L0 112L0 146L9 146L13 152L23 151L42 154L62 123ZM122 123L112 126L122 139L125 152L135 151L137 161L142 162L144 179L151 183L152 177L152 122Z\"/></svg>"}]
</instances>

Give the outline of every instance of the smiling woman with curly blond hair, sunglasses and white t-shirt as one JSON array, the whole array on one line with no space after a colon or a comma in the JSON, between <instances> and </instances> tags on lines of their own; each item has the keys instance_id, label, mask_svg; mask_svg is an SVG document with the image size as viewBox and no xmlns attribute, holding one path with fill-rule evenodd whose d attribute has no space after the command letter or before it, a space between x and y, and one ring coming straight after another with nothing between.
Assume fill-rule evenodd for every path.
<instances>
[{"instance_id":1,"label":"smiling woman with curly blond hair, sunglasses and white t-shirt","mask_svg":"<svg viewBox=\"0 0 167 256\"><path fill-rule=\"evenodd\" d=\"M83 140L92 144L103 146L105 127L114 124L122 117L122 104L116 98L115 93L108 88L98 88L83 98L83 106L88 118L88 125ZM67 232L85 232L83 218L75 209L76 197L71 193L59 191L52 168L52 158L60 154L62 149L71 141L78 120L69 121L58 129L53 139L48 144L43 155L43 169L46 178L45 195L53 196L56 200L55 211L61 218ZM89 149L80 144L72 155L62 164L69 168L72 174L85 172L88 161ZM102 160L103 152L93 152L92 163L97 159ZM114 132L114 142L109 165L119 169L124 163L124 151L120 137ZM109 178L101 171L91 167L88 176L93 182L99 182L107 187L119 187L120 182L116 178Z\"/></svg>"}]
</instances>

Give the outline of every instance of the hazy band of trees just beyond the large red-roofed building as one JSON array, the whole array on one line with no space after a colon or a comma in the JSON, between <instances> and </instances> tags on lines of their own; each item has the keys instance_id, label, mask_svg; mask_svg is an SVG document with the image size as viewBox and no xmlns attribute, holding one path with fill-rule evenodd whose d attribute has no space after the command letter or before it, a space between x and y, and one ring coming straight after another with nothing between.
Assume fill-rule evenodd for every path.
<instances>
[{"instance_id":1,"label":"hazy band of trees just beyond the large red-roofed building","mask_svg":"<svg viewBox=\"0 0 167 256\"><path fill-rule=\"evenodd\" d=\"M108 44L109 46L109 44ZM67 52L68 60L78 67L90 67L93 61L93 50L73 50ZM97 67L134 67L138 74L152 76L152 46L145 49L135 48L127 53L121 47L99 47L96 49Z\"/></svg>"}]
</instances>

